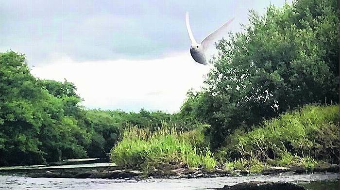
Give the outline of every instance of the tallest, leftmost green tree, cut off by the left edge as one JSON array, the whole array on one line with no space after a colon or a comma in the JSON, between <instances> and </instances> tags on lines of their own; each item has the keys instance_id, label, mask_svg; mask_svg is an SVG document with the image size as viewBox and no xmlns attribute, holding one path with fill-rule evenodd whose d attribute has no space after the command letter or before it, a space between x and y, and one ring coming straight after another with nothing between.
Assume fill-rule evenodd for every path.
<instances>
[{"instance_id":1,"label":"tallest, leftmost green tree, cut off by the left edge","mask_svg":"<svg viewBox=\"0 0 340 190\"><path fill-rule=\"evenodd\" d=\"M44 161L37 133L48 114L41 99L49 94L37 83L24 55L0 53L0 163Z\"/></svg>"}]
</instances>

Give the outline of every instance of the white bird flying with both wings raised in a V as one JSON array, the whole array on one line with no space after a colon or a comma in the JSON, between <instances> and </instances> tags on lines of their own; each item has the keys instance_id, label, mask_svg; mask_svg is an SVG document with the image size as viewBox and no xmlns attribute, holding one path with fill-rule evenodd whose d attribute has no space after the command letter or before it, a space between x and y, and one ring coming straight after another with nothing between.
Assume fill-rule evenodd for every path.
<instances>
[{"instance_id":1,"label":"white bird flying with both wings raised in a V","mask_svg":"<svg viewBox=\"0 0 340 190\"><path fill-rule=\"evenodd\" d=\"M187 33L189 34L189 38L191 40L191 47L190 47L190 54L192 58L197 63L201 63L206 65L206 59L205 59L205 51L209 47L209 45L214 41L214 39L221 34L221 32L224 31L224 29L233 21L234 18L230 19L228 22L223 24L219 29L212 32L208 36L204 38L204 40L201 42L201 44L198 44L194 38L194 35L192 34L190 23L189 23L189 13L186 13L186 24L187 24Z\"/></svg>"}]
</instances>

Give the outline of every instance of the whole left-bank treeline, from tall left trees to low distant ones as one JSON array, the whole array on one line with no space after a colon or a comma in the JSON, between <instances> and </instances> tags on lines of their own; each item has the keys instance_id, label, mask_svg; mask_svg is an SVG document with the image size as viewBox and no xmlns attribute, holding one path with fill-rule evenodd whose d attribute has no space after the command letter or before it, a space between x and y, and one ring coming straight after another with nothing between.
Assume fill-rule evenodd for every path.
<instances>
[{"instance_id":1,"label":"whole left-bank treeline, from tall left trees to low distant ones","mask_svg":"<svg viewBox=\"0 0 340 190\"><path fill-rule=\"evenodd\" d=\"M126 125L154 130L176 119L161 111L86 110L80 102L72 83L36 79L24 55L0 53L0 165L107 157Z\"/></svg>"}]
</instances>

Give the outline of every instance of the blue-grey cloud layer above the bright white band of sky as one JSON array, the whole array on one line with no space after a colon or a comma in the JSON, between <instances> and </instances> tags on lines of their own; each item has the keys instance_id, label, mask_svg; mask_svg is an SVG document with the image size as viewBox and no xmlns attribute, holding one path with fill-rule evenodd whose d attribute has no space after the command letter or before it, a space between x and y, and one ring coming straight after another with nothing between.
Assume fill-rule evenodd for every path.
<instances>
[{"instance_id":1,"label":"blue-grey cloud layer above the bright white band of sky","mask_svg":"<svg viewBox=\"0 0 340 190\"><path fill-rule=\"evenodd\" d=\"M271 0L282 5L284 0ZM184 23L190 12L197 39L235 16L231 30L247 21L248 9L264 12L270 0L4 0L0 3L0 51L27 54L30 64L54 55L75 61L154 59L186 51Z\"/></svg>"}]
</instances>

